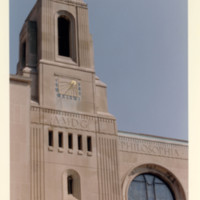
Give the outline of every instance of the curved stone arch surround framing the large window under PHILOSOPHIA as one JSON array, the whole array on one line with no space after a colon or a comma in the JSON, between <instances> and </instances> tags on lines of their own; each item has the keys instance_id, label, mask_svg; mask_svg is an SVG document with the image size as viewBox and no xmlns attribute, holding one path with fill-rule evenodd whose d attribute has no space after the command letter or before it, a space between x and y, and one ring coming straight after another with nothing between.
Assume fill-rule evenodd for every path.
<instances>
[{"instance_id":1,"label":"curved stone arch surround framing the large window under PHILOSOPHIA","mask_svg":"<svg viewBox=\"0 0 200 200\"><path fill-rule=\"evenodd\" d=\"M124 176L122 182L123 200L128 200L128 189L131 182L141 174L152 174L163 180L172 191L176 200L186 200L185 192L176 176L165 167L156 164L143 164L130 169Z\"/></svg>"}]
</instances>

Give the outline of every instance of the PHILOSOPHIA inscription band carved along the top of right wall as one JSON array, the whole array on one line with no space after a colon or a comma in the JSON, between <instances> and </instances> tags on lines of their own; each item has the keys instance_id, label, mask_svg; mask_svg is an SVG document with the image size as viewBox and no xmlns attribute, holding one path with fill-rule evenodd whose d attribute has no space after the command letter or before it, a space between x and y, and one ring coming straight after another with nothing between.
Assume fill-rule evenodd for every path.
<instances>
[{"instance_id":1,"label":"PHILOSOPHIA inscription band carved along the top of right wall","mask_svg":"<svg viewBox=\"0 0 200 200\"><path fill-rule=\"evenodd\" d=\"M187 148L180 145L119 137L119 148L121 151L187 159Z\"/></svg>"}]
</instances>

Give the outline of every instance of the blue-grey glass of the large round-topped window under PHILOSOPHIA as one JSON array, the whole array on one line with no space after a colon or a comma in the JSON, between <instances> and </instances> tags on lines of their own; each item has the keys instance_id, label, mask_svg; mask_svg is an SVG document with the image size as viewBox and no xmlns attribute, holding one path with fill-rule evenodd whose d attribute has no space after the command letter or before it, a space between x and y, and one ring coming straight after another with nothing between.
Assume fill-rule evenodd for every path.
<instances>
[{"instance_id":1,"label":"blue-grey glass of the large round-topped window under PHILOSOPHIA","mask_svg":"<svg viewBox=\"0 0 200 200\"><path fill-rule=\"evenodd\" d=\"M175 200L168 185L153 174L141 174L130 184L128 200Z\"/></svg>"}]
</instances>

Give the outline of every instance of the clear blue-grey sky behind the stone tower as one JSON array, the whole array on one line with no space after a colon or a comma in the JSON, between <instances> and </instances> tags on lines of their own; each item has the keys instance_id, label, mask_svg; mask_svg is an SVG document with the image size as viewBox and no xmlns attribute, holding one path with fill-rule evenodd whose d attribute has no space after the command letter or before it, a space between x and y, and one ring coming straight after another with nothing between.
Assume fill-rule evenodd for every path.
<instances>
[{"instance_id":1,"label":"clear blue-grey sky behind the stone tower","mask_svg":"<svg viewBox=\"0 0 200 200\"><path fill-rule=\"evenodd\" d=\"M10 65L36 0L10 0ZM119 130L187 139L187 0L85 0Z\"/></svg>"}]
</instances>

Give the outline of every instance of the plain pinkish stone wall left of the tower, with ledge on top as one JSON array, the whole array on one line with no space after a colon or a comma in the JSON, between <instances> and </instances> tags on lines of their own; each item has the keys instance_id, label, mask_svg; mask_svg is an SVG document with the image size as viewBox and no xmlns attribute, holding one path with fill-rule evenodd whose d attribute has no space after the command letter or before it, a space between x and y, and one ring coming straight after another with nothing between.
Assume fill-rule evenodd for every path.
<instances>
[{"instance_id":1,"label":"plain pinkish stone wall left of the tower, with ledge on top","mask_svg":"<svg viewBox=\"0 0 200 200\"><path fill-rule=\"evenodd\" d=\"M30 200L30 80L11 76L10 194L11 200Z\"/></svg>"}]
</instances>

